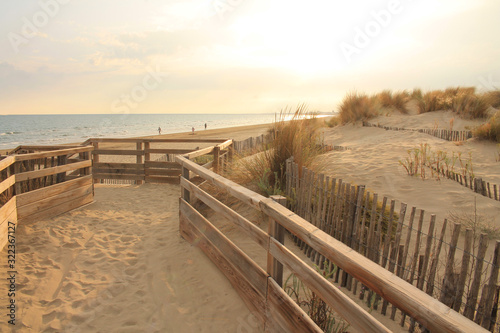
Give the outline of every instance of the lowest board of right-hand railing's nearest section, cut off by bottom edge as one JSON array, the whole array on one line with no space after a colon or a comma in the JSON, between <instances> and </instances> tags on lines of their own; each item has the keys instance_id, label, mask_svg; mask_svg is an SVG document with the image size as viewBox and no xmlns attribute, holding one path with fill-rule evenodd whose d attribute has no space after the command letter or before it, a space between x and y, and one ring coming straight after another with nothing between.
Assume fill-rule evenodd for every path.
<instances>
[{"instance_id":1,"label":"lowest board of right-hand railing's nearest section, cut off by bottom edge","mask_svg":"<svg viewBox=\"0 0 500 333\"><path fill-rule=\"evenodd\" d=\"M268 283L266 332L323 332L271 278Z\"/></svg>"}]
</instances>

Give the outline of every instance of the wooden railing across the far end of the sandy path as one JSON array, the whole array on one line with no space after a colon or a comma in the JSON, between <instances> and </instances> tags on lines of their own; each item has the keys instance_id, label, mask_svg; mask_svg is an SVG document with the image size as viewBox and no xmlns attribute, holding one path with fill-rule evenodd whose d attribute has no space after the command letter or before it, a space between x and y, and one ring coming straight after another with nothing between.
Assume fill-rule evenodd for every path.
<instances>
[{"instance_id":1,"label":"wooden railing across the far end of the sandy path","mask_svg":"<svg viewBox=\"0 0 500 333\"><path fill-rule=\"evenodd\" d=\"M232 156L232 141L225 139L89 139L85 143L94 146L93 178L96 183L178 184L181 169L172 156L190 154L195 158L211 154L216 168ZM194 147L206 143L215 145L203 149ZM191 144L194 148L163 148L165 144ZM109 156L114 158L106 161Z\"/></svg>"}]
</instances>

